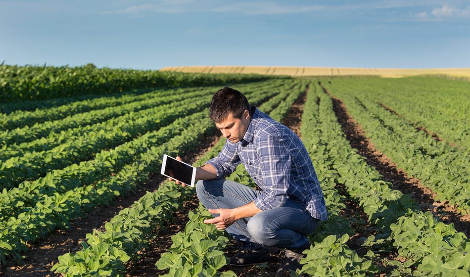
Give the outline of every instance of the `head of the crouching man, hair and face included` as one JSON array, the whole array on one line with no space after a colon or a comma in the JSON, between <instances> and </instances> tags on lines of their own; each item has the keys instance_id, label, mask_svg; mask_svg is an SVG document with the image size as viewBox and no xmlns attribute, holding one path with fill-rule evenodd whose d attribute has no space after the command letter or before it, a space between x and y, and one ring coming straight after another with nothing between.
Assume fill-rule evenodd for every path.
<instances>
[{"instance_id":1,"label":"head of the crouching man, hair and face included","mask_svg":"<svg viewBox=\"0 0 470 277\"><path fill-rule=\"evenodd\" d=\"M240 91L225 86L212 97L209 116L224 137L237 143L248 129L251 108Z\"/></svg>"}]
</instances>

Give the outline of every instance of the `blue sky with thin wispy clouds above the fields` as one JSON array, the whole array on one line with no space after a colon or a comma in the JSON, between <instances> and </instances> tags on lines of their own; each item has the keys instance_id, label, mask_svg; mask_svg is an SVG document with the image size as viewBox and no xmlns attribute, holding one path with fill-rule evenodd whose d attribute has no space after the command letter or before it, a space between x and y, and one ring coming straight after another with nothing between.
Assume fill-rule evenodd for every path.
<instances>
[{"instance_id":1,"label":"blue sky with thin wispy clouds above the fields","mask_svg":"<svg viewBox=\"0 0 470 277\"><path fill-rule=\"evenodd\" d=\"M470 68L470 0L0 0L0 63Z\"/></svg>"}]
</instances>

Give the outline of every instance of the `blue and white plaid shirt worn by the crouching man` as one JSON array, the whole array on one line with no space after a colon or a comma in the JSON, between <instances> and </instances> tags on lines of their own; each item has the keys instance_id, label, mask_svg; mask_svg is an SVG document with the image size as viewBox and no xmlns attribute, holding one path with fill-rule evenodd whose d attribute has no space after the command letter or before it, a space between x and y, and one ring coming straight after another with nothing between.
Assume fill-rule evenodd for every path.
<instances>
[{"instance_id":1,"label":"blue and white plaid shirt worn by the crouching man","mask_svg":"<svg viewBox=\"0 0 470 277\"><path fill-rule=\"evenodd\" d=\"M217 178L243 163L263 190L254 200L260 210L282 207L291 198L303 203L312 217L325 220L325 200L304 144L288 127L253 109L243 139L237 143L227 140L218 156L207 163L215 167Z\"/></svg>"}]
</instances>

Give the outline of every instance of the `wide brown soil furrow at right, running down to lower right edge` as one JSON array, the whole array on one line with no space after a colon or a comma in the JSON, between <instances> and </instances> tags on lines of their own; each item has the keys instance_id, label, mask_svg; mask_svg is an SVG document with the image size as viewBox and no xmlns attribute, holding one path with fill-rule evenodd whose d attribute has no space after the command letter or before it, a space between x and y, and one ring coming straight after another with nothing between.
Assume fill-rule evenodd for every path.
<instances>
[{"instance_id":1,"label":"wide brown soil furrow at right, running down to lower right edge","mask_svg":"<svg viewBox=\"0 0 470 277\"><path fill-rule=\"evenodd\" d=\"M435 201L437 194L423 186L419 179L412 178L402 169L397 167L386 155L375 149L374 145L365 136L361 126L348 114L344 103L331 95L323 87L324 93L333 100L333 107L338 122L341 124L346 138L351 147L358 150L358 154L365 158L368 165L373 166L383 176L383 179L393 184L393 189L404 194L411 194L421 211L431 211L436 217L445 223L454 223L455 229L463 232L467 237L470 230L470 215L462 215L448 202Z\"/></svg>"}]
</instances>

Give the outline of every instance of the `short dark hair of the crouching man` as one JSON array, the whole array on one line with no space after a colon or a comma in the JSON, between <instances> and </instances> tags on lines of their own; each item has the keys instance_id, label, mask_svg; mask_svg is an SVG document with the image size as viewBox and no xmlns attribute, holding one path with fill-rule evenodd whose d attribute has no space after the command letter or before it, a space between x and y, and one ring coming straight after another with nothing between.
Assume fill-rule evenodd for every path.
<instances>
[{"instance_id":1,"label":"short dark hair of the crouching man","mask_svg":"<svg viewBox=\"0 0 470 277\"><path fill-rule=\"evenodd\" d=\"M248 99L240 91L224 86L212 97L209 117L215 123L222 122L230 113L241 119L245 110L251 114Z\"/></svg>"}]
</instances>

